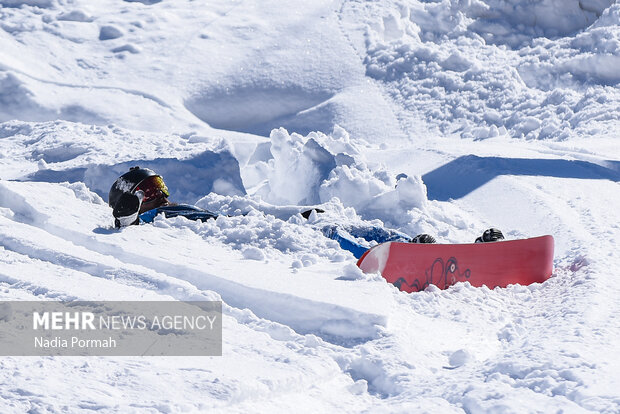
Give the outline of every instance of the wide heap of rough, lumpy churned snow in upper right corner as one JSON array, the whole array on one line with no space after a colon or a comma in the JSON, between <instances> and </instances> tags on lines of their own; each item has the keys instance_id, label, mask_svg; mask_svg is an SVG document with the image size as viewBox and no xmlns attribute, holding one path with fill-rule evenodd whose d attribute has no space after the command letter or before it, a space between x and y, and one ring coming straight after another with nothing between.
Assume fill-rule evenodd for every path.
<instances>
[{"instance_id":1,"label":"wide heap of rough, lumpy churned snow in upper right corner","mask_svg":"<svg viewBox=\"0 0 620 414\"><path fill-rule=\"evenodd\" d=\"M463 138L566 140L613 134L620 117L611 3L394 2L377 16L348 7L367 16L366 73L388 85L407 128L419 119Z\"/></svg>"}]
</instances>

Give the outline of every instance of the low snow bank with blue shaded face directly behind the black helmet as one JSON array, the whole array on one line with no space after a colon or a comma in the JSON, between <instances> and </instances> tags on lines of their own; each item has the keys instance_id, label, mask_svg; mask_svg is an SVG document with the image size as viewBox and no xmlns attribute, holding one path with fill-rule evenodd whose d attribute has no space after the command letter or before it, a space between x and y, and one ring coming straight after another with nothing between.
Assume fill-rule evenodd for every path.
<instances>
[{"instance_id":1,"label":"low snow bank with blue shaded face directly behind the black helmet","mask_svg":"<svg viewBox=\"0 0 620 414\"><path fill-rule=\"evenodd\" d=\"M0 124L0 136L11 155L0 164L6 178L82 182L107 200L116 178L138 165L161 174L176 202L193 203L211 191L245 194L239 163L220 139L189 142L180 136L67 121L6 122ZM169 156L161 157L162 152ZM18 167L16 157L28 162Z\"/></svg>"}]
</instances>

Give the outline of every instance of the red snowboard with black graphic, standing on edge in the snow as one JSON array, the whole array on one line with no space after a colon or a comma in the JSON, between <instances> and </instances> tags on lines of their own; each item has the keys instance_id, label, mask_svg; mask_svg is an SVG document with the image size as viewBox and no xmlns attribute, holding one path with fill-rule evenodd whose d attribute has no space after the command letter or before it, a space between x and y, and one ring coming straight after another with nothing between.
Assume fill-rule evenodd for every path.
<instances>
[{"instance_id":1,"label":"red snowboard with black graphic, standing on edge in the snow","mask_svg":"<svg viewBox=\"0 0 620 414\"><path fill-rule=\"evenodd\" d=\"M428 285L446 289L456 282L506 287L544 282L553 271L553 237L474 244L388 242L357 261L365 273L381 273L405 292Z\"/></svg>"}]
</instances>

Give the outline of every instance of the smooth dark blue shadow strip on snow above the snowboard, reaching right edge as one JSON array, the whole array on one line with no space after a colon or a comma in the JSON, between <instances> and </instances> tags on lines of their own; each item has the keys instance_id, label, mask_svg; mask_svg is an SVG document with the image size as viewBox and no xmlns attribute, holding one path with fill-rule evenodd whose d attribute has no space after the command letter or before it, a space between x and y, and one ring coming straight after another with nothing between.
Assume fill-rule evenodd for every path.
<instances>
[{"instance_id":1,"label":"smooth dark blue shadow strip on snow above the snowboard, reaching right edge","mask_svg":"<svg viewBox=\"0 0 620 414\"><path fill-rule=\"evenodd\" d=\"M603 167L586 161L465 155L422 176L429 200L466 196L499 175L532 175L620 181L620 161Z\"/></svg>"}]
</instances>

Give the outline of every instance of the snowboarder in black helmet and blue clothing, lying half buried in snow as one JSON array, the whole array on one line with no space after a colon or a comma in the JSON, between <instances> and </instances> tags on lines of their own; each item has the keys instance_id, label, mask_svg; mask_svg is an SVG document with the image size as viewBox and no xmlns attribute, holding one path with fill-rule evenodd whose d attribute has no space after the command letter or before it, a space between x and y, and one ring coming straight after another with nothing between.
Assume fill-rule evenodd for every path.
<instances>
[{"instance_id":1,"label":"snowboarder in black helmet and blue clothing, lying half buried in snow","mask_svg":"<svg viewBox=\"0 0 620 414\"><path fill-rule=\"evenodd\" d=\"M198 208L189 204L176 204L168 200L170 192L161 175L148 168L132 167L120 176L112 187L108 196L108 204L112 207L114 225L117 228L151 223L159 214L165 217L183 216L190 220L206 221L216 219L217 213ZM313 213L324 212L320 208L312 208L302 212L302 216L309 219ZM338 242L340 247L348 250L356 258L360 258L369 248L368 243L385 243L388 241L410 243L435 243L435 238L428 234L419 234L414 238L396 230L385 229L379 226L338 226L324 225L319 228L328 238ZM503 239L497 229L489 229L478 242L497 241ZM364 245L360 239L365 240Z\"/></svg>"}]
</instances>

